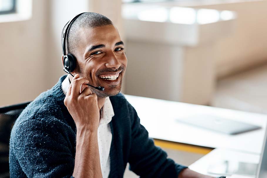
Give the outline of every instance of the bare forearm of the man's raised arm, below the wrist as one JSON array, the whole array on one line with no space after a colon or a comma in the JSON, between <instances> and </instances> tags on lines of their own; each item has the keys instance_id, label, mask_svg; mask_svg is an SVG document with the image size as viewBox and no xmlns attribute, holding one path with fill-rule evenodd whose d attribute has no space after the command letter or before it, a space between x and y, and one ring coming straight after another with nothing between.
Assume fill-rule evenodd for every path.
<instances>
[{"instance_id":1,"label":"bare forearm of the man's raised arm, below the wrist","mask_svg":"<svg viewBox=\"0 0 267 178\"><path fill-rule=\"evenodd\" d=\"M97 130L90 132L77 128L73 177L102 178Z\"/></svg>"}]
</instances>

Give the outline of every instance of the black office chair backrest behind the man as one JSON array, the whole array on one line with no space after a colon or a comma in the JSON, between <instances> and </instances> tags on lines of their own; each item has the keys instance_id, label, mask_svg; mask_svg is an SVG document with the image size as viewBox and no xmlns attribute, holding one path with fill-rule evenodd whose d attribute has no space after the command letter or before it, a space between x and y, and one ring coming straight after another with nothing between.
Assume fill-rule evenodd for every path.
<instances>
[{"instance_id":1,"label":"black office chair backrest behind the man","mask_svg":"<svg viewBox=\"0 0 267 178\"><path fill-rule=\"evenodd\" d=\"M0 108L0 178L9 178L9 139L11 128L20 113L31 102Z\"/></svg>"}]
</instances>

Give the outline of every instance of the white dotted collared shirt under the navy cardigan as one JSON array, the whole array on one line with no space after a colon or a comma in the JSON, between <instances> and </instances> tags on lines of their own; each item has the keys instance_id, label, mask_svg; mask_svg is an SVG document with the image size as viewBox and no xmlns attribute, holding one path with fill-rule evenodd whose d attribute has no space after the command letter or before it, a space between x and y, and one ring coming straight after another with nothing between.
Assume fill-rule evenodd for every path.
<instances>
[{"instance_id":1,"label":"white dotted collared shirt under the navy cardigan","mask_svg":"<svg viewBox=\"0 0 267 178\"><path fill-rule=\"evenodd\" d=\"M70 86L68 76L62 82L62 90L66 95ZM110 172L110 146L112 140L112 133L110 129L110 121L114 116L114 111L109 97L106 98L105 103L100 112L100 121L98 125L98 149L100 155L100 166L103 178L108 178Z\"/></svg>"}]
</instances>

